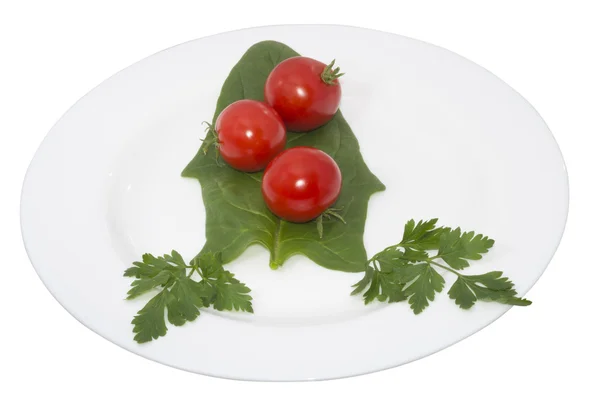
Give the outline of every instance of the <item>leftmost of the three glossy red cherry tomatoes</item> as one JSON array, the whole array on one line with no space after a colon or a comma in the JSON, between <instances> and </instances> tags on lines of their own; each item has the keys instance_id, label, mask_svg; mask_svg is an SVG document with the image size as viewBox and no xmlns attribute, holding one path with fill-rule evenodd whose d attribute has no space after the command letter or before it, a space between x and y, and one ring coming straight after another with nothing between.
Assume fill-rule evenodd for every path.
<instances>
[{"instance_id":1,"label":"leftmost of the three glossy red cherry tomatoes","mask_svg":"<svg viewBox=\"0 0 600 400\"><path fill-rule=\"evenodd\" d=\"M275 110L259 101L230 104L219 114L215 130L221 157L240 171L264 169L285 148L283 121Z\"/></svg>"}]
</instances>

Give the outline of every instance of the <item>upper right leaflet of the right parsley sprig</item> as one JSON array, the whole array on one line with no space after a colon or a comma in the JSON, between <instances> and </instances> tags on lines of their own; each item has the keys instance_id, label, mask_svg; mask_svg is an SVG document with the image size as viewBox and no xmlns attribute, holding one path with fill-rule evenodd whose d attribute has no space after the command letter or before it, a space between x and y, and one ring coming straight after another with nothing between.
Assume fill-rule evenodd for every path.
<instances>
[{"instance_id":1,"label":"upper right leaflet of the right parsley sprig","mask_svg":"<svg viewBox=\"0 0 600 400\"><path fill-rule=\"evenodd\" d=\"M494 240L475 232L461 234L460 228L443 232L440 236L441 257L449 266L461 270L469 266L467 260L479 260L494 245Z\"/></svg>"}]
</instances>

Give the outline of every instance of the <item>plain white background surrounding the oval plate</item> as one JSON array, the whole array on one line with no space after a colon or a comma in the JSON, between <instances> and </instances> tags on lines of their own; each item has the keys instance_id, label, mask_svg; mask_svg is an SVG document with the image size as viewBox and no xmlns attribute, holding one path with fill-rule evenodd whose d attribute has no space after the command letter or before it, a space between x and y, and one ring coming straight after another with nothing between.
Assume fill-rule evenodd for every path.
<instances>
[{"instance_id":1,"label":"plain white background surrounding the oval plate","mask_svg":"<svg viewBox=\"0 0 600 400\"><path fill-rule=\"evenodd\" d=\"M0 5L0 398L598 398L596 2L344 3ZM329 382L252 383L193 375L130 354L82 326L52 298L22 245L19 194L27 165L56 120L105 78L166 47L286 23L356 25L421 39L489 69L534 105L563 151L571 205L563 242L527 294L533 306L512 309L473 337L399 368ZM207 54L208 62L215 56ZM527 221L515 227L527 228ZM357 346L368 345L366 339ZM377 332L371 339L377 340Z\"/></svg>"}]
</instances>

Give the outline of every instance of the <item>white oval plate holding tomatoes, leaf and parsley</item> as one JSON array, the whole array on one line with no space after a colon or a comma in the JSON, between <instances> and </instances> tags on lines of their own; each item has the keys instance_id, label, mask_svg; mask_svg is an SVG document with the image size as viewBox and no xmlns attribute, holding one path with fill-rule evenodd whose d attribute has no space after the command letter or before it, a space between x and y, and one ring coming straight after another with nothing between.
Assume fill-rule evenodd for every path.
<instances>
[{"instance_id":1,"label":"white oval plate holding tomatoes, leaf and parsley","mask_svg":"<svg viewBox=\"0 0 600 400\"><path fill-rule=\"evenodd\" d=\"M177 368L311 380L424 357L509 309L478 303L463 311L445 294L419 316L402 303L365 307L349 296L359 275L301 256L271 271L267 251L252 247L228 268L252 288L256 314L205 311L157 341L133 341L131 318L148 297L124 300L123 270L144 252L175 248L191 258L202 247L200 186L179 174L229 70L266 39L335 57L346 72L342 110L387 185L369 205L369 254L398 242L406 220L439 217L496 239L472 272L501 269L519 294L531 288L556 250L568 208L563 159L533 107L483 68L420 41L342 26L273 26L148 57L92 90L52 128L25 179L21 222L38 274L75 318Z\"/></svg>"}]
</instances>

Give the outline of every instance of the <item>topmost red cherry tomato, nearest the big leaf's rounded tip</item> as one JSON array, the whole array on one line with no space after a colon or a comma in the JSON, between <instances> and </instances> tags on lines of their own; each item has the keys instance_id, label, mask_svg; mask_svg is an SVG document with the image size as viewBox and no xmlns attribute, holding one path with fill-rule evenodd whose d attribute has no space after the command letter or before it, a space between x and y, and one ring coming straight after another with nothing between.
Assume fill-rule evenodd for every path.
<instances>
[{"instance_id":1,"label":"topmost red cherry tomato, nearest the big leaf's rounded tip","mask_svg":"<svg viewBox=\"0 0 600 400\"><path fill-rule=\"evenodd\" d=\"M326 65L308 57L292 57L278 64L265 83L265 101L294 132L316 129L333 118L342 98L338 80L326 84Z\"/></svg>"}]
</instances>

